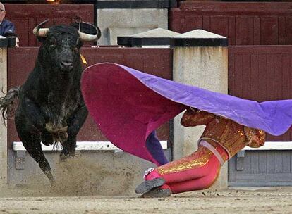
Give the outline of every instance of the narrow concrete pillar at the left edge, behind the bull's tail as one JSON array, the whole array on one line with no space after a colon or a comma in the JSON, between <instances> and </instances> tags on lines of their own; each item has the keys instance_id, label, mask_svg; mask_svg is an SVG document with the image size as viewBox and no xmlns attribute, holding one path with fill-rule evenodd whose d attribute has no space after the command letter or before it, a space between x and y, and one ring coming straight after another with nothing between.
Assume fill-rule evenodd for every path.
<instances>
[{"instance_id":1,"label":"narrow concrete pillar at the left edge, behind the bull's tail","mask_svg":"<svg viewBox=\"0 0 292 214\"><path fill-rule=\"evenodd\" d=\"M7 44L8 39L0 36L0 97L7 92ZM2 92L3 91L3 92ZM7 127L0 121L0 187L7 184Z\"/></svg>"}]
</instances>

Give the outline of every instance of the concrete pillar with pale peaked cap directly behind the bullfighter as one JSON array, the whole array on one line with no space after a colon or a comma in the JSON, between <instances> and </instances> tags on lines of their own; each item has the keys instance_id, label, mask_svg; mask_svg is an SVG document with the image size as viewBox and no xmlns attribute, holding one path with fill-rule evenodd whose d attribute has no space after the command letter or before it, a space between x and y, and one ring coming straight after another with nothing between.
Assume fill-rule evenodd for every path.
<instances>
[{"instance_id":1,"label":"concrete pillar with pale peaked cap directly behind the bullfighter","mask_svg":"<svg viewBox=\"0 0 292 214\"><path fill-rule=\"evenodd\" d=\"M193 30L174 37L174 81L214 92L227 94L228 89L228 40L205 30ZM183 127L181 115L174 118L174 159L197 149L205 126ZM215 188L227 187L227 164Z\"/></svg>"}]
</instances>

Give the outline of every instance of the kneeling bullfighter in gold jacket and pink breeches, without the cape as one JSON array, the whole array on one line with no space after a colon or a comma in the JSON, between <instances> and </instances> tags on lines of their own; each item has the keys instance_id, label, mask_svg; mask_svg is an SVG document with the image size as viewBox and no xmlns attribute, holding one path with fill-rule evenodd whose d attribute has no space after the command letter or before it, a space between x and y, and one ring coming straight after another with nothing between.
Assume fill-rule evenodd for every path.
<instances>
[{"instance_id":1,"label":"kneeling bullfighter in gold jacket and pink breeches, without the cape","mask_svg":"<svg viewBox=\"0 0 292 214\"><path fill-rule=\"evenodd\" d=\"M185 191L207 189L216 181L221 165L245 146L264 145L265 133L206 111L188 108L181 125L206 125L198 149L189 156L145 172L145 182L136 193L143 197L164 197Z\"/></svg>"}]
</instances>

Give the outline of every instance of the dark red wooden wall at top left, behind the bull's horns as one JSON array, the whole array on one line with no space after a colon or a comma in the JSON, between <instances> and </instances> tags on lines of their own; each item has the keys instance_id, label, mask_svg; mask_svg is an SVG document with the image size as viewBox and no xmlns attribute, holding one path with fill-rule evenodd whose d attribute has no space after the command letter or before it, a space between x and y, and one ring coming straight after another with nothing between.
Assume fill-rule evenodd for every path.
<instances>
[{"instance_id":1,"label":"dark red wooden wall at top left, behind the bull's horns","mask_svg":"<svg viewBox=\"0 0 292 214\"><path fill-rule=\"evenodd\" d=\"M75 16L93 23L93 4L5 4L6 18L16 25L20 46L39 45L32 29L49 19L45 27L73 23Z\"/></svg>"}]
</instances>

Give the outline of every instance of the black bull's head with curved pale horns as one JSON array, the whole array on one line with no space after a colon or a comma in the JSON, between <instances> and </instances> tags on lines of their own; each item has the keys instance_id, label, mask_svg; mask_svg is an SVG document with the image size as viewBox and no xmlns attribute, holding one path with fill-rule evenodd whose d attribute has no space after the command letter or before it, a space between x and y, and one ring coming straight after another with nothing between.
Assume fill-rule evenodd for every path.
<instances>
[{"instance_id":1,"label":"black bull's head with curved pale horns","mask_svg":"<svg viewBox=\"0 0 292 214\"><path fill-rule=\"evenodd\" d=\"M68 25L54 25L50 28L42 28L42 25L49 20L37 25L33 33L40 42L43 43L42 49L46 49L44 56L50 61L55 70L62 73L70 73L80 61L80 47L83 42L97 41L100 37L99 30L95 35L80 32L75 27Z\"/></svg>"}]
</instances>

